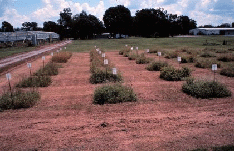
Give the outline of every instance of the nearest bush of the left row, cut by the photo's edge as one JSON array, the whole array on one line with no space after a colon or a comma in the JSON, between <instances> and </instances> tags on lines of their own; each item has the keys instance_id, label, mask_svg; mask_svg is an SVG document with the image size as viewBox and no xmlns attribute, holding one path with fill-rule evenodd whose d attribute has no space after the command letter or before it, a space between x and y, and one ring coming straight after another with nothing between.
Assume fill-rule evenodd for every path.
<instances>
[{"instance_id":1,"label":"nearest bush of the left row, cut by the photo's edge","mask_svg":"<svg viewBox=\"0 0 234 151\"><path fill-rule=\"evenodd\" d=\"M0 97L0 110L29 108L40 100L40 94L35 91L15 91L4 93Z\"/></svg>"}]
</instances>

